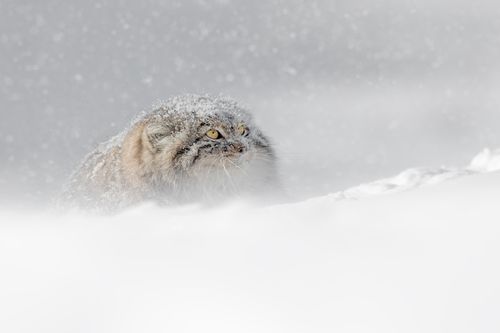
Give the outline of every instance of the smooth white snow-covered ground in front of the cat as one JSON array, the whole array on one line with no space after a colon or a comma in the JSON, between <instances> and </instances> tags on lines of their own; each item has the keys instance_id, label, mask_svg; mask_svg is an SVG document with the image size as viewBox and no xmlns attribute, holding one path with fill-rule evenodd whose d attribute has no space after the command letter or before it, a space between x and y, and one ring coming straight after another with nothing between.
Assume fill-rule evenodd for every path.
<instances>
[{"instance_id":1,"label":"smooth white snow-covered ground in front of the cat","mask_svg":"<svg viewBox=\"0 0 500 333\"><path fill-rule=\"evenodd\" d=\"M497 332L499 162L269 207L2 211L0 331Z\"/></svg>"}]
</instances>

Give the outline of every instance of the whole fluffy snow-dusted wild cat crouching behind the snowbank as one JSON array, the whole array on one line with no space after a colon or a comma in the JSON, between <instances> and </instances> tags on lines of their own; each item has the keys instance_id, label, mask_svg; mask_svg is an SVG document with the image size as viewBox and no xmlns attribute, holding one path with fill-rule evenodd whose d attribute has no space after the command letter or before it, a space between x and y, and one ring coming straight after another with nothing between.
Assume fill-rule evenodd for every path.
<instances>
[{"instance_id":1,"label":"whole fluffy snow-dusted wild cat crouching behind the snowbank","mask_svg":"<svg viewBox=\"0 0 500 333\"><path fill-rule=\"evenodd\" d=\"M91 152L63 200L116 211L259 197L277 188L276 158L248 111L225 97L183 95L139 116Z\"/></svg>"}]
</instances>

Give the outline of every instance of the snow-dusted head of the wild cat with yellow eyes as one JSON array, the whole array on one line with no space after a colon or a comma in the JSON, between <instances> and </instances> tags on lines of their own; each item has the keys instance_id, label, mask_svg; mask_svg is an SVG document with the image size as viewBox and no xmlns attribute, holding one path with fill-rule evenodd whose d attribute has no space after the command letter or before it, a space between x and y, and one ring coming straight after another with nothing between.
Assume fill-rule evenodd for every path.
<instances>
[{"instance_id":1,"label":"snow-dusted head of the wild cat with yellow eyes","mask_svg":"<svg viewBox=\"0 0 500 333\"><path fill-rule=\"evenodd\" d=\"M232 100L188 96L170 101L153 113L145 131L157 178L173 178L179 188L242 192L275 176L268 139Z\"/></svg>"}]
</instances>

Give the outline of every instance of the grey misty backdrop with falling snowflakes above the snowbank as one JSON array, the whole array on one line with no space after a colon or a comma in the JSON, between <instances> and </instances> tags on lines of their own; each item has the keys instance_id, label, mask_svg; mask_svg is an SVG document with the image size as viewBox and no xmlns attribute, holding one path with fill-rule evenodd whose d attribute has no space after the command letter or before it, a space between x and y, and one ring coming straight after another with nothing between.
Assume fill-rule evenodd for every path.
<instances>
[{"instance_id":1,"label":"grey misty backdrop with falling snowflakes above the snowbank","mask_svg":"<svg viewBox=\"0 0 500 333\"><path fill-rule=\"evenodd\" d=\"M44 205L141 110L229 95L297 199L500 147L495 1L0 0L0 205Z\"/></svg>"}]
</instances>

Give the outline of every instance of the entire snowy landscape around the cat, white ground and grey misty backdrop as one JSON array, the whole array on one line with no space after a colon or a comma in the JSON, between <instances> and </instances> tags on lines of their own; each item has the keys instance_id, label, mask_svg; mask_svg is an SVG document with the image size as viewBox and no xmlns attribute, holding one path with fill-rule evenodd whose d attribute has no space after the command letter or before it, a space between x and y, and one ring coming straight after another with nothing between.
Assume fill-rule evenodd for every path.
<instances>
[{"instance_id":1,"label":"entire snowy landscape around the cat, white ground and grey misty backdrop","mask_svg":"<svg viewBox=\"0 0 500 333\"><path fill-rule=\"evenodd\" d=\"M0 2L0 332L498 332L498 17ZM281 203L54 208L89 151L185 93L252 111Z\"/></svg>"}]
</instances>

